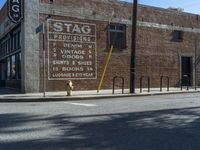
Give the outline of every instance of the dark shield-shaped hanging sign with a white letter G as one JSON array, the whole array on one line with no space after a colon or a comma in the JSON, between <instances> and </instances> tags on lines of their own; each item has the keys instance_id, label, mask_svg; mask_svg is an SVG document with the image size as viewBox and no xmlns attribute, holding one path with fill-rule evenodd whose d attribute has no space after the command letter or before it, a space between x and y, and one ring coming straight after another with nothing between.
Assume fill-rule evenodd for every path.
<instances>
[{"instance_id":1,"label":"dark shield-shaped hanging sign with a white letter G","mask_svg":"<svg viewBox=\"0 0 200 150\"><path fill-rule=\"evenodd\" d=\"M23 18L23 0L8 0L8 17L13 23Z\"/></svg>"}]
</instances>

